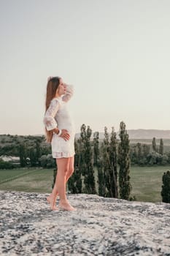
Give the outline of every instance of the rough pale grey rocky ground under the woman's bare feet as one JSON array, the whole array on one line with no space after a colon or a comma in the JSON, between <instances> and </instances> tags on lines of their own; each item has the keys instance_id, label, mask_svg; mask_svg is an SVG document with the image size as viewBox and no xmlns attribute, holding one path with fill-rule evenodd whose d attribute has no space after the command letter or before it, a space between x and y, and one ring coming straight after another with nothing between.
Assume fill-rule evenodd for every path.
<instances>
[{"instance_id":1,"label":"rough pale grey rocky ground under the woman's bare feet","mask_svg":"<svg viewBox=\"0 0 170 256\"><path fill-rule=\"evenodd\" d=\"M170 204L80 194L50 211L46 196L0 191L0 255L170 255Z\"/></svg>"}]
</instances>

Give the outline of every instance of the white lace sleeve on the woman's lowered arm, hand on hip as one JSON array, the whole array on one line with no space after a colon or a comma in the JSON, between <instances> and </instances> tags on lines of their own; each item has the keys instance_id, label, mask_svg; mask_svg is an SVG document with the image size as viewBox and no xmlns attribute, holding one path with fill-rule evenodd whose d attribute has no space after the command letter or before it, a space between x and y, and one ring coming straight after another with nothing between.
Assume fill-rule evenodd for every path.
<instances>
[{"instance_id":1,"label":"white lace sleeve on the woman's lowered arm, hand on hip","mask_svg":"<svg viewBox=\"0 0 170 256\"><path fill-rule=\"evenodd\" d=\"M47 128L47 131L50 131L51 129L55 129L58 124L55 121L55 115L58 111L59 108L59 102L57 99L53 99L50 102L50 106L47 109L46 113L45 113L45 118L44 118L44 124L45 127Z\"/></svg>"}]
</instances>

